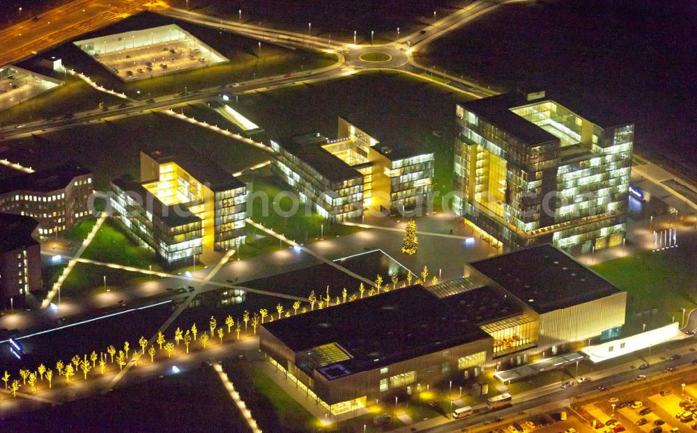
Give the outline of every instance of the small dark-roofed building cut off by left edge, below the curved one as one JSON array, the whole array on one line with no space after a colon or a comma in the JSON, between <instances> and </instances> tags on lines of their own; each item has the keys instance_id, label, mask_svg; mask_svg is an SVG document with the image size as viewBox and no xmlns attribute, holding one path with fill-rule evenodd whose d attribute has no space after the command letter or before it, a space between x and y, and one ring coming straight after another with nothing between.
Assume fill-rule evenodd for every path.
<instances>
[{"instance_id":1,"label":"small dark-roofed building cut off by left edge, below the curved one","mask_svg":"<svg viewBox=\"0 0 697 433\"><path fill-rule=\"evenodd\" d=\"M0 299L41 289L41 246L33 234L38 221L0 214Z\"/></svg>"}]
</instances>

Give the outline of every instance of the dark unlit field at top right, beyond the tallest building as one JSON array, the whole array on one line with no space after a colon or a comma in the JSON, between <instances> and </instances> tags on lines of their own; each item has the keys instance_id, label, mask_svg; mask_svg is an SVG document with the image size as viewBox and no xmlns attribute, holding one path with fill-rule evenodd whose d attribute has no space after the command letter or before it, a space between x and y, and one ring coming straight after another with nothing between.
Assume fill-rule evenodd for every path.
<instances>
[{"instance_id":1,"label":"dark unlit field at top right, beyond the tallest building","mask_svg":"<svg viewBox=\"0 0 697 433\"><path fill-rule=\"evenodd\" d=\"M608 111L635 123L638 152L697 177L696 19L689 1L516 3L437 40L418 60Z\"/></svg>"}]
</instances>

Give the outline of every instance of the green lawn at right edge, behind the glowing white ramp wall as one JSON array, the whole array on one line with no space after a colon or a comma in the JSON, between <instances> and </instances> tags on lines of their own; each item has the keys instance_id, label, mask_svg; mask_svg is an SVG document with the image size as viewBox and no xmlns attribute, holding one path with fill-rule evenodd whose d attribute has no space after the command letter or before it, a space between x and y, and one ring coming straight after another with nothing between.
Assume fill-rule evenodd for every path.
<instances>
[{"instance_id":1,"label":"green lawn at right edge, behind the glowing white ramp wall","mask_svg":"<svg viewBox=\"0 0 697 433\"><path fill-rule=\"evenodd\" d=\"M697 304L691 291L697 289L697 251L680 246L666 251L645 251L609 260L592 267L604 278L627 292L625 335L662 326L671 318L680 320L682 308ZM691 300L693 299L693 300ZM657 314L650 312L657 309Z\"/></svg>"}]
</instances>

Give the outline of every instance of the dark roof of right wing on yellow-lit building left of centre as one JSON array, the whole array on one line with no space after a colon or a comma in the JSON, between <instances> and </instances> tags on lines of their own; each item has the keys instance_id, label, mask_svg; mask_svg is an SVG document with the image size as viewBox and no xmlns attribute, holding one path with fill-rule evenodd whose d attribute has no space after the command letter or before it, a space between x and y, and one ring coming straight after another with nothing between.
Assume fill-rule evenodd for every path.
<instances>
[{"instance_id":1,"label":"dark roof of right wing on yellow-lit building left of centre","mask_svg":"<svg viewBox=\"0 0 697 433\"><path fill-rule=\"evenodd\" d=\"M168 148L144 150L160 164L174 162L212 191L227 191L244 187L245 184L225 171L220 164L213 162L190 145L170 145Z\"/></svg>"}]
</instances>

